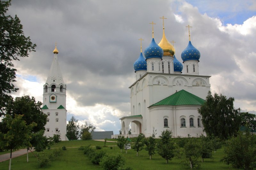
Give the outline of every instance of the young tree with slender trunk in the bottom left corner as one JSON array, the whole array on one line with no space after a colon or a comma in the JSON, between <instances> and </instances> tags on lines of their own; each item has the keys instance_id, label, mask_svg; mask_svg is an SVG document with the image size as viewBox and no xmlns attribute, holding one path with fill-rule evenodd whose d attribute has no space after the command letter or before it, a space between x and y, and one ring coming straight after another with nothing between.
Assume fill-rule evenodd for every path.
<instances>
[{"instance_id":1,"label":"young tree with slender trunk in the bottom left corner","mask_svg":"<svg viewBox=\"0 0 256 170\"><path fill-rule=\"evenodd\" d=\"M22 120L23 115L15 115L14 118L10 115L6 115L3 118L3 122L6 122L8 131L6 133L0 132L0 147L2 149L11 150L9 170L11 169L12 162L12 150L19 149L24 145L24 141L28 141L31 138L31 130L36 123L31 123L28 126L26 122Z\"/></svg>"}]
</instances>

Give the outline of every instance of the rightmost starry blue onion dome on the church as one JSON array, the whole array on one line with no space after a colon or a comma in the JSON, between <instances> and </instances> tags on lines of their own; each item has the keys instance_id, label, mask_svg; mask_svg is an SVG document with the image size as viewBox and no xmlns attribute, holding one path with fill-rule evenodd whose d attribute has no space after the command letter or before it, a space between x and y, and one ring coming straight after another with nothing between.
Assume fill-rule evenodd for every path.
<instances>
[{"instance_id":1,"label":"rightmost starry blue onion dome on the church","mask_svg":"<svg viewBox=\"0 0 256 170\"><path fill-rule=\"evenodd\" d=\"M183 50L181 53L181 59L184 61L187 60L198 60L200 58L200 52L196 49L192 44L191 41L188 42L187 48Z\"/></svg>"}]
</instances>

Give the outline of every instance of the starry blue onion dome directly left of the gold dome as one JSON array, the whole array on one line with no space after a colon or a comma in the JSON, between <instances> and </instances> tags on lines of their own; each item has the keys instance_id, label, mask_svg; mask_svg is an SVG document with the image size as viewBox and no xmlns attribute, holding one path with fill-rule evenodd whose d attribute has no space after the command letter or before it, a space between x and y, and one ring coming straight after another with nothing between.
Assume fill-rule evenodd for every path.
<instances>
[{"instance_id":1,"label":"starry blue onion dome directly left of the gold dome","mask_svg":"<svg viewBox=\"0 0 256 170\"><path fill-rule=\"evenodd\" d=\"M146 59L148 59L148 58L162 58L163 55L164 55L164 51L160 46L158 46L156 44L154 38L152 38L151 43L149 44L149 46L144 51L144 55L145 55Z\"/></svg>"}]
</instances>

